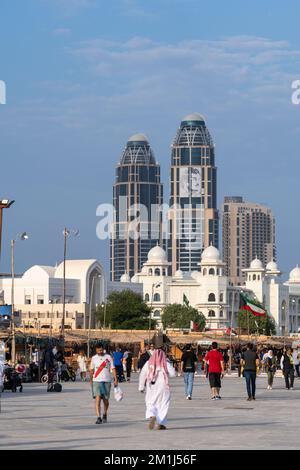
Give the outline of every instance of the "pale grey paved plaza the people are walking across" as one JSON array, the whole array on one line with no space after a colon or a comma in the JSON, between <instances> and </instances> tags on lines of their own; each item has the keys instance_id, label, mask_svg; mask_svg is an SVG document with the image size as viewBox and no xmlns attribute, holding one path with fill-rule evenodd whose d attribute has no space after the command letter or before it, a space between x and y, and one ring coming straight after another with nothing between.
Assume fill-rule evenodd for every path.
<instances>
[{"instance_id":1,"label":"pale grey paved plaza the people are walking across","mask_svg":"<svg viewBox=\"0 0 300 470\"><path fill-rule=\"evenodd\" d=\"M214 402L206 379L196 377L193 400L187 401L182 377L172 379L168 430L149 431L136 374L130 384L122 384L124 400L112 398L109 423L99 426L89 383L64 384L61 394L25 384L24 393L2 394L0 448L299 449L300 380L290 391L281 377L271 391L265 376L257 385L257 400L247 402L244 380L225 377L223 399Z\"/></svg>"}]
</instances>

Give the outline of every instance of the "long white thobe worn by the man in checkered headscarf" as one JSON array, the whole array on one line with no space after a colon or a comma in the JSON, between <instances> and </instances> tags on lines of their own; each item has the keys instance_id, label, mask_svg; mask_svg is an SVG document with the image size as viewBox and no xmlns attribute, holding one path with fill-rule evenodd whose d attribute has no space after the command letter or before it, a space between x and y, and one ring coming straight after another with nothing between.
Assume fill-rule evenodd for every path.
<instances>
[{"instance_id":1,"label":"long white thobe worn by the man in checkered headscarf","mask_svg":"<svg viewBox=\"0 0 300 470\"><path fill-rule=\"evenodd\" d=\"M169 362L167 362L167 368L169 377L175 377L175 369ZM143 391L146 383L146 419L155 416L156 422L165 426L171 393L170 387L165 382L163 370L157 369L157 371L155 383L146 383L148 375L148 362L146 362L140 373L139 390Z\"/></svg>"}]
</instances>

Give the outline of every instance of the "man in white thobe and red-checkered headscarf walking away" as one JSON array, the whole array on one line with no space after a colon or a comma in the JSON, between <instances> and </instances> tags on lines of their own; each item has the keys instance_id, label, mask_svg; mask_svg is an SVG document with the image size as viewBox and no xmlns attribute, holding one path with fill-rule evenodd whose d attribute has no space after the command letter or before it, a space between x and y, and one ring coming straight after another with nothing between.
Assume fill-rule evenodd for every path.
<instances>
[{"instance_id":1,"label":"man in white thobe and red-checkered headscarf walking away","mask_svg":"<svg viewBox=\"0 0 300 470\"><path fill-rule=\"evenodd\" d=\"M139 377L139 391L146 388L146 419L149 429L165 430L170 405L169 377L175 377L174 367L167 361L162 349L155 349L151 358L143 366Z\"/></svg>"}]
</instances>

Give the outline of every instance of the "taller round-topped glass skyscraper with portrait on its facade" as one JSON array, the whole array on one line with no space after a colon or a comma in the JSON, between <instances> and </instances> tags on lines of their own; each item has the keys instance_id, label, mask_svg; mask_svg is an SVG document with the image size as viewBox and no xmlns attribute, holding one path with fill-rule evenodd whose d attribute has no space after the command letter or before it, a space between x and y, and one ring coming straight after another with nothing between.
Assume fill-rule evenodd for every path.
<instances>
[{"instance_id":1,"label":"taller round-topped glass skyscraper with portrait on its facade","mask_svg":"<svg viewBox=\"0 0 300 470\"><path fill-rule=\"evenodd\" d=\"M198 270L203 249L219 245L215 148L198 113L183 119L172 145L169 223L172 273Z\"/></svg>"}]
</instances>

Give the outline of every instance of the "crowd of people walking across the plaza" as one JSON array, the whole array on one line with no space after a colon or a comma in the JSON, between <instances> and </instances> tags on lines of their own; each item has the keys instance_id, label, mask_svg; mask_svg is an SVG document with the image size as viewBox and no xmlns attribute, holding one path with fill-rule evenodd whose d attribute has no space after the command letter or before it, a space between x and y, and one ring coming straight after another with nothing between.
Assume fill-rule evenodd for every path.
<instances>
[{"instance_id":1,"label":"crowd of people walking across the plaza","mask_svg":"<svg viewBox=\"0 0 300 470\"><path fill-rule=\"evenodd\" d=\"M211 390L211 400L221 400L222 379L232 369L238 370L238 376L245 378L247 400L256 400L256 378L261 372L266 374L266 388L272 390L274 377L278 370L282 371L287 390L294 388L295 377L300 378L299 363L300 349L286 348L284 350L264 348L257 350L252 343L241 348L220 349L217 342L202 351L186 345L180 359L175 359L163 338L159 336L155 341L146 345L134 358L133 351L122 351L116 347L107 351L101 343L96 345L95 355L91 359L84 350L80 350L76 358L77 372L82 382L88 379L91 384L92 397L95 400L96 424L106 423L108 419L109 400L112 384L114 391L118 390L121 382L130 382L132 371L139 373L140 392L145 394L146 419L149 429L164 430L167 426L167 415L170 405L170 377L182 376L184 394L187 400L192 400L194 378L203 373L207 378ZM17 364L10 367L13 389L20 385L22 378L28 370L32 376L37 369L42 368L47 374L47 391L54 390L56 382L60 381L66 364L63 351L48 347L42 357L33 357L30 367L26 367L24 359L20 358ZM56 376L55 376L56 374ZM16 391L16 390L13 390ZM20 390L21 391L21 390Z\"/></svg>"}]
</instances>

